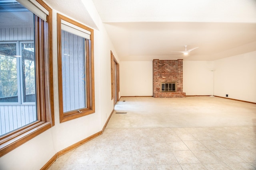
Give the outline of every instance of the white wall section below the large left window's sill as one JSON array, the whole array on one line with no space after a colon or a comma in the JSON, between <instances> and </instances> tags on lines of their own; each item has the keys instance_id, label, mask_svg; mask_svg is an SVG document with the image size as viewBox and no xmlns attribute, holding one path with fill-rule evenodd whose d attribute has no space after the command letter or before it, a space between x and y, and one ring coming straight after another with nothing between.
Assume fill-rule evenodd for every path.
<instances>
[{"instance_id":1,"label":"white wall section below the large left window's sill","mask_svg":"<svg viewBox=\"0 0 256 170\"><path fill-rule=\"evenodd\" d=\"M0 157L0 169L38 170L42 168L55 153L51 131L47 130Z\"/></svg>"}]
</instances>

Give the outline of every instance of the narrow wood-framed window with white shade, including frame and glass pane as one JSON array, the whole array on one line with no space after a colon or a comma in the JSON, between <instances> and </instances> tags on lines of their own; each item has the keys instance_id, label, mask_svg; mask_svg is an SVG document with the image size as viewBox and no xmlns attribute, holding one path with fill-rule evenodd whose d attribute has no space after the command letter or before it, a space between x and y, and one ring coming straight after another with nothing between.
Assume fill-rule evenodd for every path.
<instances>
[{"instance_id":1,"label":"narrow wood-framed window with white shade, including frame and glass pane","mask_svg":"<svg viewBox=\"0 0 256 170\"><path fill-rule=\"evenodd\" d=\"M93 29L57 14L60 122L94 113Z\"/></svg>"}]
</instances>

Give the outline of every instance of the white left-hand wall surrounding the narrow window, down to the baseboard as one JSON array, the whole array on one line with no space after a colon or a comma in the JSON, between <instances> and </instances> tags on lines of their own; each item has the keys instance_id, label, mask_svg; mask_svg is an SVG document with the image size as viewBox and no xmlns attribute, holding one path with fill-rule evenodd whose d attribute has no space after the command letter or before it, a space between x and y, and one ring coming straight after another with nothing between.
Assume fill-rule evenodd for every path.
<instances>
[{"instance_id":1,"label":"white left-hand wall surrounding the narrow window, down to the baseboard","mask_svg":"<svg viewBox=\"0 0 256 170\"><path fill-rule=\"evenodd\" d=\"M110 50L119 61L92 1L84 2L99 30L94 29L95 113L60 123L58 107L58 67L56 11L53 10L53 69L55 126L0 158L0 169L36 170L59 152L102 130L114 101L111 100ZM86 23L84 23L86 25Z\"/></svg>"}]
</instances>

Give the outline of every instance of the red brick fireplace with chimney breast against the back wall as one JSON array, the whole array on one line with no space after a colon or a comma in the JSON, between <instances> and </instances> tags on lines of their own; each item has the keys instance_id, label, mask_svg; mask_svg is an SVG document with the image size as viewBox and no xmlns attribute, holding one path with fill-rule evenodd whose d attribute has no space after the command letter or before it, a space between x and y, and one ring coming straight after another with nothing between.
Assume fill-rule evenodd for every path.
<instances>
[{"instance_id":1,"label":"red brick fireplace with chimney breast against the back wall","mask_svg":"<svg viewBox=\"0 0 256 170\"><path fill-rule=\"evenodd\" d=\"M183 92L183 60L153 60L154 98L181 98Z\"/></svg>"}]
</instances>

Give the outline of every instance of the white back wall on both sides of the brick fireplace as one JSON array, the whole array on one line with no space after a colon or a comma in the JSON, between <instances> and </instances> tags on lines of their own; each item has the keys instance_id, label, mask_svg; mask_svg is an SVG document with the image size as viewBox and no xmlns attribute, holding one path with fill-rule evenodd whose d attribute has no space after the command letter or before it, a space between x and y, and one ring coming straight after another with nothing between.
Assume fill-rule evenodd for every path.
<instances>
[{"instance_id":1,"label":"white back wall on both sides of the brick fireplace","mask_svg":"<svg viewBox=\"0 0 256 170\"><path fill-rule=\"evenodd\" d=\"M183 61L183 92L211 95L212 67L212 61ZM121 96L152 96L153 61L121 61L120 91Z\"/></svg>"}]
</instances>

